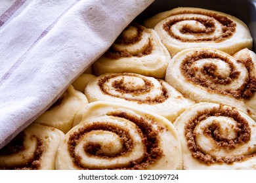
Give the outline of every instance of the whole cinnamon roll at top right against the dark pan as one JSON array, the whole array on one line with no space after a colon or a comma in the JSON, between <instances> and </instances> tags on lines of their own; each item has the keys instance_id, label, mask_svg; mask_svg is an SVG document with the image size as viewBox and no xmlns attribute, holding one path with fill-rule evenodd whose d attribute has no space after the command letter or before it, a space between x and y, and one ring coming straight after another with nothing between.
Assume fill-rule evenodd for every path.
<instances>
[{"instance_id":1,"label":"whole cinnamon roll at top right against the dark pan","mask_svg":"<svg viewBox=\"0 0 256 183\"><path fill-rule=\"evenodd\" d=\"M247 25L214 10L174 8L153 16L144 25L154 27L171 56L187 48L216 48L228 54L252 48Z\"/></svg>"}]
</instances>

